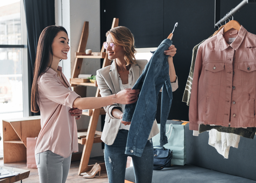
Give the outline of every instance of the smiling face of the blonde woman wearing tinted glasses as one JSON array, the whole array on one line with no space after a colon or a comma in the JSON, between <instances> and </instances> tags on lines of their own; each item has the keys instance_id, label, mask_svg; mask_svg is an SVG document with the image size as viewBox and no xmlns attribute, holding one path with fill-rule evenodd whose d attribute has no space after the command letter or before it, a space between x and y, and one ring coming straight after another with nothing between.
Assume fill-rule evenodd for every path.
<instances>
[{"instance_id":1,"label":"smiling face of the blonde woman wearing tinted glasses","mask_svg":"<svg viewBox=\"0 0 256 183\"><path fill-rule=\"evenodd\" d=\"M113 43L114 42L112 40L110 34L107 36L107 41L106 42L107 43ZM124 48L122 46L115 45L115 49L112 50L111 46L109 45L106 50L108 52L108 56L109 56L110 60L113 60L113 59L124 60L125 50L124 50Z\"/></svg>"}]
</instances>

